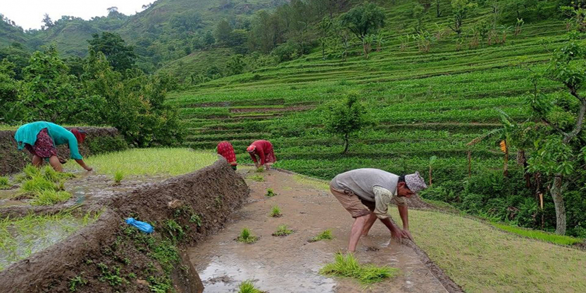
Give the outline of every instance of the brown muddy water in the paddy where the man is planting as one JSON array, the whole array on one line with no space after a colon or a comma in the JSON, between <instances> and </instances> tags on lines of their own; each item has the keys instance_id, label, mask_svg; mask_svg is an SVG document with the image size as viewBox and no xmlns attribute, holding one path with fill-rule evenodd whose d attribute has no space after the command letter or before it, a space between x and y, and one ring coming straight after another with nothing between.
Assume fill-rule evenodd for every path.
<instances>
[{"instance_id":1,"label":"brown muddy water in the paddy where the man is planting","mask_svg":"<svg viewBox=\"0 0 586 293\"><path fill-rule=\"evenodd\" d=\"M283 293L447 292L411 248L390 241L390 233L381 223L374 224L369 236L360 240L356 257L361 263L399 268L398 277L363 288L354 280L319 275L335 252L346 249L352 218L323 189L278 171L262 175L265 182L247 180L251 197L233 222L188 251L205 293L237 292L244 280L254 280L261 290ZM265 197L267 188L278 195ZM268 216L274 205L281 207L282 217ZM271 236L280 224L295 232ZM260 240L254 244L234 241L244 227ZM308 243L325 229L332 229L336 239Z\"/></svg>"}]
</instances>

